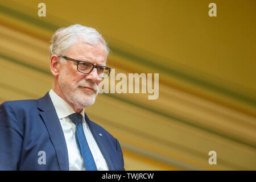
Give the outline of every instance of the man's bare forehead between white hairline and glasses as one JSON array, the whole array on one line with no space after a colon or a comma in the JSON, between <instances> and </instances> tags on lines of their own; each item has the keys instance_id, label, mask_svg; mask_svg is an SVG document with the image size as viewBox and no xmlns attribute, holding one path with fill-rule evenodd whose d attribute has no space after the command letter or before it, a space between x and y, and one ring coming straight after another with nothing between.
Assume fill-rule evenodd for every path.
<instances>
[{"instance_id":1,"label":"man's bare forehead between white hairline and glasses","mask_svg":"<svg viewBox=\"0 0 256 182\"><path fill-rule=\"evenodd\" d=\"M106 61L105 47L101 43L92 45L85 42L76 42L67 56L77 60L89 59L93 63L105 63Z\"/></svg>"}]
</instances>

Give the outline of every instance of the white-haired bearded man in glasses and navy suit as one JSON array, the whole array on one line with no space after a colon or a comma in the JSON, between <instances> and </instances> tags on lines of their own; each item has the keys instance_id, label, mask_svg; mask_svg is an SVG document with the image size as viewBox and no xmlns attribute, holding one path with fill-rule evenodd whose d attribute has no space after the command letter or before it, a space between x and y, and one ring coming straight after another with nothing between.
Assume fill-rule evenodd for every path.
<instances>
[{"instance_id":1,"label":"white-haired bearded man in glasses and navy suit","mask_svg":"<svg viewBox=\"0 0 256 182\"><path fill-rule=\"evenodd\" d=\"M111 71L105 40L75 24L51 43L52 89L0 105L0 170L124 170L118 140L84 112Z\"/></svg>"}]
</instances>

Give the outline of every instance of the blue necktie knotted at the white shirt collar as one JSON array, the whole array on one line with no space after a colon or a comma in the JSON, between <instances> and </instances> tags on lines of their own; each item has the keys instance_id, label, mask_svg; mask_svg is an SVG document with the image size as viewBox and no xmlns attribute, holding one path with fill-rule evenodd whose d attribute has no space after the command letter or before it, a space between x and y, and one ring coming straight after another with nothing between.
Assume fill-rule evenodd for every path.
<instances>
[{"instance_id":1,"label":"blue necktie knotted at the white shirt collar","mask_svg":"<svg viewBox=\"0 0 256 182\"><path fill-rule=\"evenodd\" d=\"M69 118L76 125L76 144L82 155L82 159L84 159L85 169L87 171L97 171L92 152L84 135L84 129L82 129L82 115L80 113L73 113L69 115Z\"/></svg>"}]
</instances>

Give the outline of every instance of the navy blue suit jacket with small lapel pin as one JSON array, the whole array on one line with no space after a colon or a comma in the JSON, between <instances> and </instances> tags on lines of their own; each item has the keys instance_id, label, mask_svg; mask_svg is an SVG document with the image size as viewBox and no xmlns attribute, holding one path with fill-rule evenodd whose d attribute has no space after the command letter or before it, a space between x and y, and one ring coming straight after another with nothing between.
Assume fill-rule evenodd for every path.
<instances>
[{"instance_id":1,"label":"navy blue suit jacket with small lapel pin","mask_svg":"<svg viewBox=\"0 0 256 182\"><path fill-rule=\"evenodd\" d=\"M124 170L118 140L86 114L85 121L109 170ZM40 162L40 151L45 163ZM69 170L63 130L49 93L39 100L0 105L0 170Z\"/></svg>"}]
</instances>

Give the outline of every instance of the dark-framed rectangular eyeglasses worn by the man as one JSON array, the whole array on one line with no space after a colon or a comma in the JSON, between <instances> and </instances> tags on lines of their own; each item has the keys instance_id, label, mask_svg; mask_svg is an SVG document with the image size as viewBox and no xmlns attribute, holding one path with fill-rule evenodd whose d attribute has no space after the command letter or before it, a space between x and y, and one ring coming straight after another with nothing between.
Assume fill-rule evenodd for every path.
<instances>
[{"instance_id":1,"label":"dark-framed rectangular eyeglasses worn by the man","mask_svg":"<svg viewBox=\"0 0 256 182\"><path fill-rule=\"evenodd\" d=\"M109 76L109 74L111 72L111 68L109 68L109 67L94 65L87 61L75 60L75 59L72 59L72 58L66 57L66 56L59 56L59 57L63 57L66 60L76 62L77 63L77 71L79 71L81 73L89 74L90 72L93 71L94 68L96 68L98 77L106 78Z\"/></svg>"}]
</instances>

